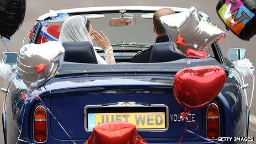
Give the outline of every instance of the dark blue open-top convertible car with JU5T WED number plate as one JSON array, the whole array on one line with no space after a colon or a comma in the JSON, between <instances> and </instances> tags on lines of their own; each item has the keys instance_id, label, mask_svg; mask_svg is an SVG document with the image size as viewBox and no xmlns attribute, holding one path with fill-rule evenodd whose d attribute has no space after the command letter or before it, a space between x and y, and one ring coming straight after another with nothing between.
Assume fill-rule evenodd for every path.
<instances>
[{"instance_id":1,"label":"dark blue open-top convertible car with JU5T WED number plate","mask_svg":"<svg viewBox=\"0 0 256 144\"><path fill-rule=\"evenodd\" d=\"M246 137L249 108L246 91L232 62L222 55L217 41L210 57L189 60L192 66L225 68L226 83L216 99L205 108L193 110L185 131L179 119L184 108L173 97L175 73L186 67L186 57L169 49L169 42L154 44L152 17L162 7L90 7L57 10L41 15L30 33L30 43L57 40L66 15L86 15L95 30L103 30L114 49L116 64L99 65L89 42L66 44L65 60L56 76L35 92L42 99L24 100L28 87L17 75L4 93L3 133L6 143L84 143L95 126L108 121L136 125L148 143L220 143L218 137ZM170 7L175 12L184 8ZM207 15L200 13L201 15ZM129 25L109 26L109 21L129 17ZM104 57L97 44L95 49ZM139 51L152 47L148 62L131 62ZM232 49L244 58L241 49ZM7 53L8 54L8 53ZM4 54L4 55L7 55ZM11 54L9 54L11 55ZM82 57L83 56L83 57ZM6 63L15 62L6 56ZM193 86L191 86L193 87ZM50 114L50 112L52 114ZM60 125L61 124L61 125ZM230 142L223 142L230 143ZM231 142L233 143L233 142ZM246 142L238 142L246 143Z\"/></svg>"}]
</instances>

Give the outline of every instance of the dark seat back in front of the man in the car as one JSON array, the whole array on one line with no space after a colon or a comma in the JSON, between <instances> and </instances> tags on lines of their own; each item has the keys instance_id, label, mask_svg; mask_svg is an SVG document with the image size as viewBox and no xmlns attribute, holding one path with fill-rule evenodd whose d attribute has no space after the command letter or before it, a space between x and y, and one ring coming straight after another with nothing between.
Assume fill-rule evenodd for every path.
<instances>
[{"instance_id":1,"label":"dark seat back in front of the man in the car","mask_svg":"<svg viewBox=\"0 0 256 144\"><path fill-rule=\"evenodd\" d=\"M154 44L151 51L150 62L168 62L186 58L186 56L170 50L169 46L170 42Z\"/></svg>"}]
</instances>

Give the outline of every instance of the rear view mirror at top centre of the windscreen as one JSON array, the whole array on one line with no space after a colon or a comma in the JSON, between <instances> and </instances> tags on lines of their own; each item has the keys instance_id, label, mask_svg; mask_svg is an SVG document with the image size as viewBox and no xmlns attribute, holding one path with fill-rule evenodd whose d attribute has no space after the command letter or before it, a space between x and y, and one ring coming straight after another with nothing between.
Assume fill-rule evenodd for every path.
<instances>
[{"instance_id":1,"label":"rear view mirror at top centre of the windscreen","mask_svg":"<svg viewBox=\"0 0 256 144\"><path fill-rule=\"evenodd\" d=\"M125 17L125 18L112 18L109 20L109 26L131 26L135 25L136 20L134 17Z\"/></svg>"}]
</instances>

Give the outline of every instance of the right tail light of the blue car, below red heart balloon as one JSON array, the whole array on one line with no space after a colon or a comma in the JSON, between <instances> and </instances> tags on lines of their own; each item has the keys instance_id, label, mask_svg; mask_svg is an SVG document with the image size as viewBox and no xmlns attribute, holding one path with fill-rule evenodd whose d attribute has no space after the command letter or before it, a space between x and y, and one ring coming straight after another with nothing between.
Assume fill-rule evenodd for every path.
<instances>
[{"instance_id":1,"label":"right tail light of the blue car, below red heart balloon","mask_svg":"<svg viewBox=\"0 0 256 144\"><path fill-rule=\"evenodd\" d=\"M214 103L207 108L206 136L212 140L220 136L220 113Z\"/></svg>"}]
</instances>

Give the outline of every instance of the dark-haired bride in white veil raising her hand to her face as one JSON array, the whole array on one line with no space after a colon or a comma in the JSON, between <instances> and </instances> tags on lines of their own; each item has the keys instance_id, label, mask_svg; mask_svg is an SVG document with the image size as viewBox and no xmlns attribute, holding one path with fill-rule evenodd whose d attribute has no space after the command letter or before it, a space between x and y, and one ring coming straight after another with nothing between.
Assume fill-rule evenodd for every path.
<instances>
[{"instance_id":1,"label":"dark-haired bride in white veil raising her hand to her face","mask_svg":"<svg viewBox=\"0 0 256 144\"><path fill-rule=\"evenodd\" d=\"M90 34L88 31L90 31ZM60 41L61 43L89 41L90 44L93 45L92 39L94 39L105 52L104 60L94 49L98 63L116 63L113 53L113 47L110 45L108 37L106 37L102 31L98 33L97 31L93 30L92 25L89 23L89 20L81 15L69 17L64 21L58 41Z\"/></svg>"}]
</instances>

